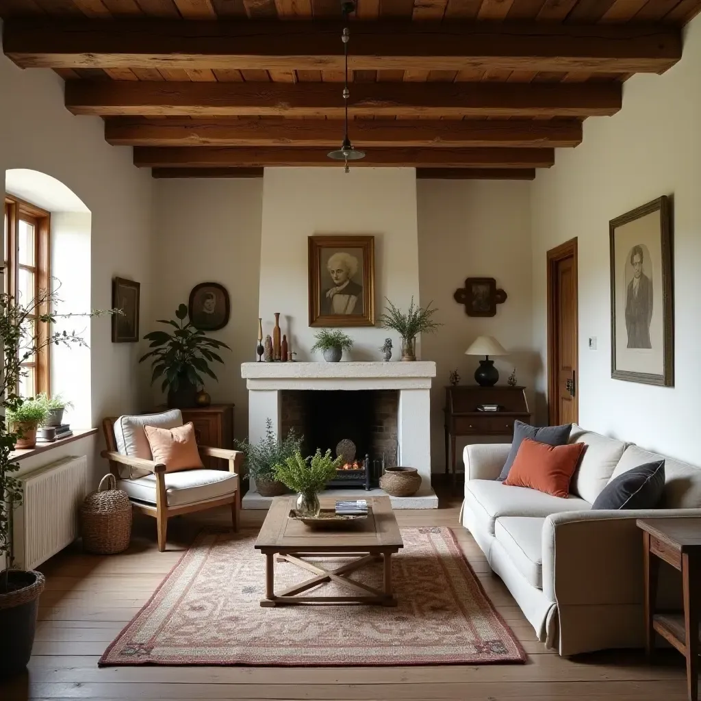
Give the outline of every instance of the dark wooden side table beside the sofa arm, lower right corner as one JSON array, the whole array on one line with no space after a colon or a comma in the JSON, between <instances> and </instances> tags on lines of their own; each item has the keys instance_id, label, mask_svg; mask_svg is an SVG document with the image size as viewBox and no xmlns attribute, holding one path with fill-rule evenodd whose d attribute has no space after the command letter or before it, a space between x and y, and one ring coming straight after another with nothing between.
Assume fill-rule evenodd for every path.
<instances>
[{"instance_id":1,"label":"dark wooden side table beside the sofa arm, lower right corner","mask_svg":"<svg viewBox=\"0 0 701 701\"><path fill-rule=\"evenodd\" d=\"M652 658L655 632L686 658L686 688L698 698L699 614L701 613L701 518L637 519L643 530L645 651ZM681 571L683 613L655 613L660 560Z\"/></svg>"}]
</instances>

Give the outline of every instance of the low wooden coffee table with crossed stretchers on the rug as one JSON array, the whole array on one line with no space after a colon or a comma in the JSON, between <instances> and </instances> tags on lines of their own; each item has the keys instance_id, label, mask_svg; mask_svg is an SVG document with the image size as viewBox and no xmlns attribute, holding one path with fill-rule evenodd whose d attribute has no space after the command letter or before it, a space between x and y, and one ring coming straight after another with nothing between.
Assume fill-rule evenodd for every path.
<instances>
[{"instance_id":1,"label":"low wooden coffee table with crossed stretchers on the rug","mask_svg":"<svg viewBox=\"0 0 701 701\"><path fill-rule=\"evenodd\" d=\"M294 508L294 496L277 496L273 499L255 547L266 557L265 599L261 606L281 604L379 604L397 606L392 588L392 554L399 552L402 536L397 526L390 500L386 496L367 499L369 515L349 526L312 529L289 517ZM336 498L320 498L322 508L334 508ZM275 555L278 562L290 562L314 576L300 584L275 594ZM327 570L318 564L307 562L307 557L355 557L336 569ZM348 578L351 572L378 559L383 560L382 590ZM324 597L300 596L312 587L333 582L353 590L353 595Z\"/></svg>"}]
</instances>

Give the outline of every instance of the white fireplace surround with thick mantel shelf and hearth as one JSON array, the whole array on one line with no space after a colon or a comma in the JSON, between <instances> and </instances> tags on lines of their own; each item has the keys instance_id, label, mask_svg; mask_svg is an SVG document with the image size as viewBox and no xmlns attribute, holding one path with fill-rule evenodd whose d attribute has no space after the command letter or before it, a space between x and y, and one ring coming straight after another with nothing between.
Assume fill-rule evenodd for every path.
<instances>
[{"instance_id":1,"label":"white fireplace surround with thick mantel shelf and hearth","mask_svg":"<svg viewBox=\"0 0 701 701\"><path fill-rule=\"evenodd\" d=\"M397 442L399 463L416 468L421 489L411 497L391 497L395 509L435 509L431 488L430 388L435 362L245 362L241 376L248 389L248 438L264 437L266 421L280 435L281 390L399 390ZM329 489L327 494L358 497L384 494L381 489ZM243 508L268 508L251 480Z\"/></svg>"}]
</instances>

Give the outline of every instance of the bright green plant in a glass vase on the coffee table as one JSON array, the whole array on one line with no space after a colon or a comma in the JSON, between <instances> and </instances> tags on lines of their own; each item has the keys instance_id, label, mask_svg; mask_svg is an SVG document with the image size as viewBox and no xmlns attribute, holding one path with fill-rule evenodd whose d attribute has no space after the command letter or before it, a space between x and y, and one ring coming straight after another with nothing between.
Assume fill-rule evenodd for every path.
<instances>
[{"instance_id":1,"label":"bright green plant in a glass vase on the coffee table","mask_svg":"<svg viewBox=\"0 0 701 701\"><path fill-rule=\"evenodd\" d=\"M321 505L318 494L329 479L333 479L336 470L343 464L343 457L335 460L331 457L331 451L324 455L317 449L311 458L302 457L298 450L284 463L275 465L275 477L292 491L299 493L297 496L297 514L304 517L319 515Z\"/></svg>"}]
</instances>

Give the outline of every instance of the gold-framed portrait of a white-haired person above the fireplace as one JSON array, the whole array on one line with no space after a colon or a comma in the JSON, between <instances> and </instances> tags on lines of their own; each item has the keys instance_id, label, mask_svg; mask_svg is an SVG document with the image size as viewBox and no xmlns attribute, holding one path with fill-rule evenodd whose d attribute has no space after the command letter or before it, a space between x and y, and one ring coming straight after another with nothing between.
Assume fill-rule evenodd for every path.
<instances>
[{"instance_id":1,"label":"gold-framed portrait of a white-haired person above the fireplace","mask_svg":"<svg viewBox=\"0 0 701 701\"><path fill-rule=\"evenodd\" d=\"M375 237L309 237L309 325L375 325Z\"/></svg>"}]
</instances>

